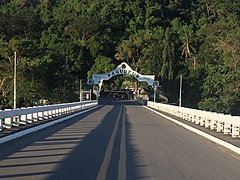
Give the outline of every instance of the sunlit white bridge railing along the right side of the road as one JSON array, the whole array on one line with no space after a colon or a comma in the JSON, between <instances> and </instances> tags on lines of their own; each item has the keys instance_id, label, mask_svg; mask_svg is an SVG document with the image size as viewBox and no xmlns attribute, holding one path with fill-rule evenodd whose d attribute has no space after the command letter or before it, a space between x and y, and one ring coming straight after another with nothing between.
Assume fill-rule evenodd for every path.
<instances>
[{"instance_id":1,"label":"sunlit white bridge railing along the right side of the road","mask_svg":"<svg viewBox=\"0 0 240 180\"><path fill-rule=\"evenodd\" d=\"M240 137L240 116L231 116L228 114L202 111L169 104L154 103L151 101L148 101L147 106L211 130L229 134L232 137Z\"/></svg>"}]
</instances>

